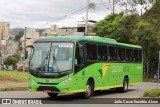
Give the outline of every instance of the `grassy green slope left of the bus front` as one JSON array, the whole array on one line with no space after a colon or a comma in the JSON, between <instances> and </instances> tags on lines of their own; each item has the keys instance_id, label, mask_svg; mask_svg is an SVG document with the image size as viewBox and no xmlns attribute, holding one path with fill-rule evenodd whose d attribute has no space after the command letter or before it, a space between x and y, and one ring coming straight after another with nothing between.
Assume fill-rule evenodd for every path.
<instances>
[{"instance_id":1,"label":"grassy green slope left of the bus front","mask_svg":"<svg viewBox=\"0 0 160 107\"><path fill-rule=\"evenodd\" d=\"M0 71L0 82L28 82L28 72Z\"/></svg>"}]
</instances>

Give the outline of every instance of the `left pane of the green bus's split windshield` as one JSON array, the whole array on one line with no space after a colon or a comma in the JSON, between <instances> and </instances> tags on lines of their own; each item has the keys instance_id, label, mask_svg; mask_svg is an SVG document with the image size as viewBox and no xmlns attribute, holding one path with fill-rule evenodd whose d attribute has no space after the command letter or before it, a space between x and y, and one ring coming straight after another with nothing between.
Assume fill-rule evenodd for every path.
<instances>
[{"instance_id":1,"label":"left pane of the green bus's split windshield","mask_svg":"<svg viewBox=\"0 0 160 107\"><path fill-rule=\"evenodd\" d=\"M47 71L51 43L34 43L30 69Z\"/></svg>"}]
</instances>

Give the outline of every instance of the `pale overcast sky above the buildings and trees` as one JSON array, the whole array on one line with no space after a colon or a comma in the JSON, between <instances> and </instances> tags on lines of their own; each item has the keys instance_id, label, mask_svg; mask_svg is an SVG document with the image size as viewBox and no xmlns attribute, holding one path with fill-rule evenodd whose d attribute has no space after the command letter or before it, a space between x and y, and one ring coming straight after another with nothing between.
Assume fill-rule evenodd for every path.
<instances>
[{"instance_id":1,"label":"pale overcast sky above the buildings and trees","mask_svg":"<svg viewBox=\"0 0 160 107\"><path fill-rule=\"evenodd\" d=\"M89 0L89 20L99 21L112 12L110 0ZM77 26L86 17L87 0L0 0L0 22L10 22L11 28L47 28L53 24ZM116 7L116 12L120 9Z\"/></svg>"}]
</instances>

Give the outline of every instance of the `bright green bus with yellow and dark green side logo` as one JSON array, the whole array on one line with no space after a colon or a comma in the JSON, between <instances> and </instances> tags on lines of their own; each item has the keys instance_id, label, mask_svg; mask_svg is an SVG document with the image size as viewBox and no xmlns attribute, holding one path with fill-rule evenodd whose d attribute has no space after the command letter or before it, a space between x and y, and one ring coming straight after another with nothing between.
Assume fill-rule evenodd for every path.
<instances>
[{"instance_id":1,"label":"bright green bus with yellow and dark green side logo","mask_svg":"<svg viewBox=\"0 0 160 107\"><path fill-rule=\"evenodd\" d=\"M96 90L126 92L128 86L142 82L141 46L98 36L50 36L29 47L30 91L89 98Z\"/></svg>"}]
</instances>

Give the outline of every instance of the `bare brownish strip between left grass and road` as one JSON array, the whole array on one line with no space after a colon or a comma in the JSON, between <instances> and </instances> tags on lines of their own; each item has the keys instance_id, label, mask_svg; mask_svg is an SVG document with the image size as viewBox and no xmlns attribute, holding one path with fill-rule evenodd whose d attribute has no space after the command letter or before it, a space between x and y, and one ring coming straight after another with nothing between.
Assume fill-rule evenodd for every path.
<instances>
[{"instance_id":1,"label":"bare brownish strip between left grass and road","mask_svg":"<svg viewBox=\"0 0 160 107\"><path fill-rule=\"evenodd\" d=\"M0 83L0 91L28 90L28 83Z\"/></svg>"}]
</instances>

